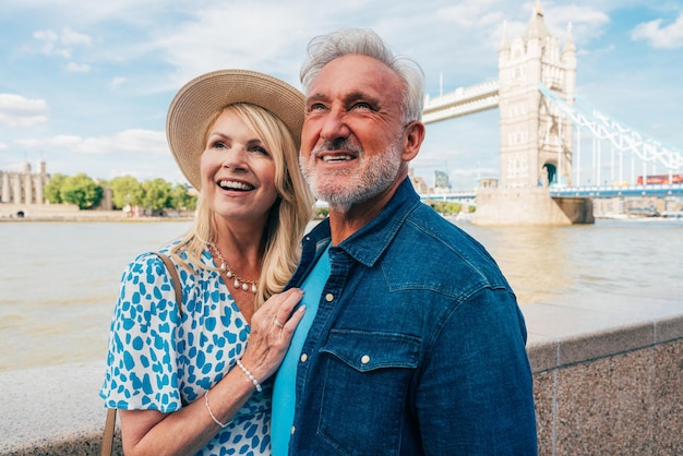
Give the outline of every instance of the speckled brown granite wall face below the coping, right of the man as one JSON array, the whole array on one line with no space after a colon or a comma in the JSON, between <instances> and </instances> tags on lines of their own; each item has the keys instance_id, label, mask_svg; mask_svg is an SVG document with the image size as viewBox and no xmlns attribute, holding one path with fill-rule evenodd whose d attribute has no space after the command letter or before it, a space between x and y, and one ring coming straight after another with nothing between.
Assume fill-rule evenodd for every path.
<instances>
[{"instance_id":1,"label":"speckled brown granite wall face below the coping, right of the man","mask_svg":"<svg viewBox=\"0 0 683 456\"><path fill-rule=\"evenodd\" d=\"M678 339L535 372L539 454L683 454L682 361Z\"/></svg>"}]
</instances>

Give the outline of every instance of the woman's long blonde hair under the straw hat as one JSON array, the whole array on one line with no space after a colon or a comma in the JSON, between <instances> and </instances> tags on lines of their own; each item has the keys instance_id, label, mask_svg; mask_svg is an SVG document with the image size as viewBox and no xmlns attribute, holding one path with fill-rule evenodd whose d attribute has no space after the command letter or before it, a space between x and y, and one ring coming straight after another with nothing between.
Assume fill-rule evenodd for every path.
<instances>
[{"instance_id":1,"label":"woman's long blonde hair under the straw hat","mask_svg":"<svg viewBox=\"0 0 683 456\"><path fill-rule=\"evenodd\" d=\"M299 263L301 237L311 220L314 200L299 169L299 149L289 130L269 111L245 103L229 105L216 112L204 132L224 112L239 117L263 141L275 164L275 188L278 199L271 208L263 232L263 261L261 277L254 298L254 309L259 309L271 296L280 292ZM199 163L196 164L199 166ZM202 252L207 243L216 241L214 212L200 192L194 224L185 237L171 249L171 255L181 264L187 264L179 255L187 251L188 257L206 269L215 267L202 261Z\"/></svg>"}]
</instances>

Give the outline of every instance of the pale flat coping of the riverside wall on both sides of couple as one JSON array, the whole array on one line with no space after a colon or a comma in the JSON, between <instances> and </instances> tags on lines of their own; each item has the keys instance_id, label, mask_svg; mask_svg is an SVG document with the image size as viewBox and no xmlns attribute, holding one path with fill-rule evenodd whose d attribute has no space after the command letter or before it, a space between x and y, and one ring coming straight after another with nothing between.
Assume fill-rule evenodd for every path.
<instances>
[{"instance_id":1,"label":"pale flat coping of the riverside wall on both sides of couple","mask_svg":"<svg viewBox=\"0 0 683 456\"><path fill-rule=\"evenodd\" d=\"M535 376L683 338L683 288L559 298L522 310ZM0 455L99 454L104 373L104 361L0 372Z\"/></svg>"}]
</instances>

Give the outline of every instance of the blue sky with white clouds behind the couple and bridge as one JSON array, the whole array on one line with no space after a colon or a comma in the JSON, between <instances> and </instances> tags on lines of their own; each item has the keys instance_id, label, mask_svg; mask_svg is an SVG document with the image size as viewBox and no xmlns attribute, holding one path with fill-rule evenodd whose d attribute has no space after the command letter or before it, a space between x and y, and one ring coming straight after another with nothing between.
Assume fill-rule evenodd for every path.
<instances>
[{"instance_id":1,"label":"blue sky with white clouds behind the couple and bridge","mask_svg":"<svg viewBox=\"0 0 683 456\"><path fill-rule=\"evenodd\" d=\"M371 27L424 70L431 96L498 79L504 23L523 33L535 1L0 0L0 170L183 182L166 110L190 79L224 68L300 87L308 41ZM541 1L550 32L577 47L576 94L612 118L683 147L683 2ZM430 124L415 172L454 188L499 172L499 113Z\"/></svg>"}]
</instances>

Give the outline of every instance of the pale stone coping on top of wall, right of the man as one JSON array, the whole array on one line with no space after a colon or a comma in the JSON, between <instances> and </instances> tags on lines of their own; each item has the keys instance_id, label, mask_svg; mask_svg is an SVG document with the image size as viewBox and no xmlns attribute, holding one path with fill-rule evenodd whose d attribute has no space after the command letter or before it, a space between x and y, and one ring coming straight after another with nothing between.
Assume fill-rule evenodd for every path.
<instances>
[{"instance_id":1,"label":"pale stone coping on top of wall, right of the man","mask_svg":"<svg viewBox=\"0 0 683 456\"><path fill-rule=\"evenodd\" d=\"M683 338L683 288L564 297L522 311L535 373Z\"/></svg>"}]
</instances>

